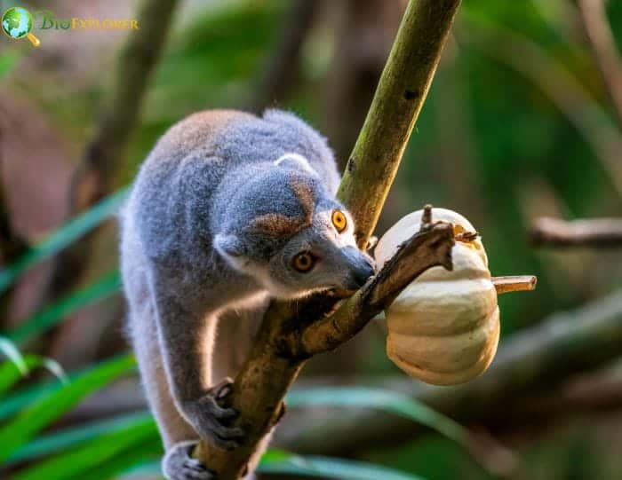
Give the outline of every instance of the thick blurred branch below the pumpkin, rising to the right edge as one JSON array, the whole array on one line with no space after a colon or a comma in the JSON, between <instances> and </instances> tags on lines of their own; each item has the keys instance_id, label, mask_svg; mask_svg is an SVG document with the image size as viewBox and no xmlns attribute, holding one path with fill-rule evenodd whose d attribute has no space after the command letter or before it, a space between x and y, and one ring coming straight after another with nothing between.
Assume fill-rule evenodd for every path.
<instances>
[{"instance_id":1,"label":"thick blurred branch below the pumpkin, rising to the right edge","mask_svg":"<svg viewBox=\"0 0 622 480\"><path fill-rule=\"evenodd\" d=\"M490 369L472 382L434 387L410 379L385 387L417 398L459 421L503 419L506 406L538 390L552 390L570 375L617 358L622 344L622 291L504 340ZM302 411L286 417L279 441L295 451L360 452L401 442L420 432L409 421L376 411ZM355 435L353 435L355 432Z\"/></svg>"}]
</instances>

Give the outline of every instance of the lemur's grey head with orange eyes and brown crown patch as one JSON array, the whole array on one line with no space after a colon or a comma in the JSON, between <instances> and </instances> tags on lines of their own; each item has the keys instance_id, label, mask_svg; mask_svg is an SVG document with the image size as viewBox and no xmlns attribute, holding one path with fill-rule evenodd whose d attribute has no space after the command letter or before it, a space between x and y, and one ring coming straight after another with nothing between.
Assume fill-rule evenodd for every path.
<instances>
[{"instance_id":1,"label":"lemur's grey head with orange eyes and brown crown patch","mask_svg":"<svg viewBox=\"0 0 622 480\"><path fill-rule=\"evenodd\" d=\"M236 215L228 217L235 221L222 222L214 246L270 295L355 290L373 274L371 257L356 247L352 216L300 155L258 169L235 193L231 208Z\"/></svg>"}]
</instances>

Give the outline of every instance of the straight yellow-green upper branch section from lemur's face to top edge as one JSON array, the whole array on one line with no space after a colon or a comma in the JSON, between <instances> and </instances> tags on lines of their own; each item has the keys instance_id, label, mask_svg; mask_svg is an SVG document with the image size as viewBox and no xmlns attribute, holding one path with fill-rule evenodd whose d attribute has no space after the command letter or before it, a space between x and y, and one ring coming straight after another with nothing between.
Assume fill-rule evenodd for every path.
<instances>
[{"instance_id":1,"label":"straight yellow-green upper branch section from lemur's face to top edge","mask_svg":"<svg viewBox=\"0 0 622 480\"><path fill-rule=\"evenodd\" d=\"M378 222L459 4L458 0L419 0L410 2L404 13L339 186L339 199L355 216L361 248Z\"/></svg>"}]
</instances>

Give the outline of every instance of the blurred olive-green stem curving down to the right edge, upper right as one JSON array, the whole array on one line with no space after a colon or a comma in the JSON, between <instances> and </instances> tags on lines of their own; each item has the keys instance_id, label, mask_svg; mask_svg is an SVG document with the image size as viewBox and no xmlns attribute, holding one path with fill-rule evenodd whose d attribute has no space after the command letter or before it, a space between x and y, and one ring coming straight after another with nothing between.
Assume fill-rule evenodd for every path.
<instances>
[{"instance_id":1,"label":"blurred olive-green stem curving down to the right edge, upper right","mask_svg":"<svg viewBox=\"0 0 622 480\"><path fill-rule=\"evenodd\" d=\"M525 35L472 14L462 15L461 20L466 28L457 29L459 42L537 85L585 139L622 197L622 135L574 75Z\"/></svg>"}]
</instances>

